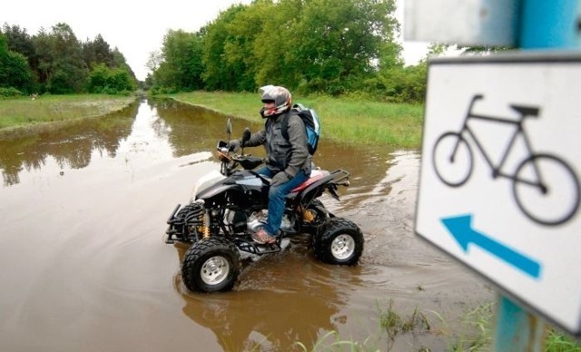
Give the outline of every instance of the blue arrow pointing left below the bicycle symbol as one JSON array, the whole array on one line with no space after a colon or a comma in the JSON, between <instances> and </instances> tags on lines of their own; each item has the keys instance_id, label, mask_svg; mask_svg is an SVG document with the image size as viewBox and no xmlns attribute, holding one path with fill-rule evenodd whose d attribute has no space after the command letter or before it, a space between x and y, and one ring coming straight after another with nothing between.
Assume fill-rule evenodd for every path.
<instances>
[{"instance_id":1,"label":"blue arrow pointing left below the bicycle symbol","mask_svg":"<svg viewBox=\"0 0 581 352\"><path fill-rule=\"evenodd\" d=\"M538 279L541 273L541 265L538 261L518 253L506 245L492 240L486 234L472 229L472 215L462 215L442 219L444 226L454 236L464 252L468 252L470 243L481 249L487 250L492 255L506 261L515 268L524 271L527 275Z\"/></svg>"}]
</instances>

